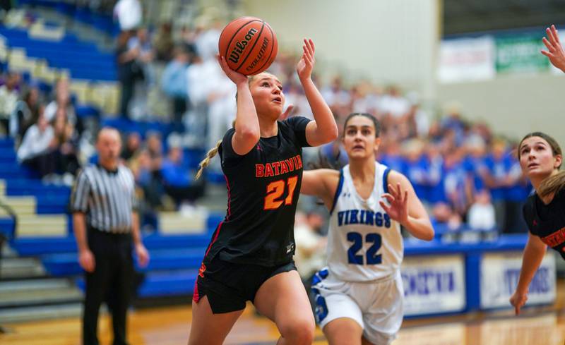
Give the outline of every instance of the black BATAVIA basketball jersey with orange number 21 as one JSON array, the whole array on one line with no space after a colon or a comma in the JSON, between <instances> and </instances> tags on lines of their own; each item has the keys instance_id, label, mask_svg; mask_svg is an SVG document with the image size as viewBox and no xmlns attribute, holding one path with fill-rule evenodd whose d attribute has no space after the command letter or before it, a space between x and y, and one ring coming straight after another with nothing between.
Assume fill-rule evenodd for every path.
<instances>
[{"instance_id":1,"label":"black BATAVIA basketball jersey with orange number 21","mask_svg":"<svg viewBox=\"0 0 565 345\"><path fill-rule=\"evenodd\" d=\"M205 260L280 265L295 253L295 212L302 183L302 147L309 119L278 121L246 155L234 152L232 128L218 150L227 184L227 213L215 229Z\"/></svg>"}]
</instances>

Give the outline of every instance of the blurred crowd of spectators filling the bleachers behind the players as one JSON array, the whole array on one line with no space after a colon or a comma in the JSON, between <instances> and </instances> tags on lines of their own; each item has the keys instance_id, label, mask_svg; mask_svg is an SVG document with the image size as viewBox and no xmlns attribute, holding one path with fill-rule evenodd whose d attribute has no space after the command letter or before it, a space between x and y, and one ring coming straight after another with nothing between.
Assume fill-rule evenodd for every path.
<instances>
[{"instance_id":1,"label":"blurred crowd of spectators filling the bleachers behind the players","mask_svg":"<svg viewBox=\"0 0 565 345\"><path fill-rule=\"evenodd\" d=\"M120 24L120 13L131 16L127 6L136 3L118 1L114 16ZM235 116L236 89L215 60L223 22L201 16L181 27L163 22L143 28L141 18L126 18L124 23L116 39L121 85L116 116L151 119L147 95L157 89L169 109L168 119L161 120L172 123L172 130L123 133L121 157L136 177L148 214L167 205L177 210L194 205L206 185L194 181L184 154L213 146ZM292 113L311 117L296 61L297 56L281 51L270 71L283 83L287 104L295 105ZM71 81L59 80L52 92L44 92L18 73L3 77L0 131L16 139L18 161L47 183L71 184L80 166L91 160L88 145L95 138L95 128L76 116ZM436 224L525 231L520 212L531 187L521 174L515 142L494 135L484 123L466 121L456 104L432 114L422 109L415 93L398 87L367 80L346 85L339 75L328 83L314 79L340 127L351 112L367 112L381 121L376 159L408 176ZM334 167L347 162L340 140L322 147L319 155L318 150L305 155L311 161L321 157ZM220 171L218 159L214 164L211 171Z\"/></svg>"}]
</instances>

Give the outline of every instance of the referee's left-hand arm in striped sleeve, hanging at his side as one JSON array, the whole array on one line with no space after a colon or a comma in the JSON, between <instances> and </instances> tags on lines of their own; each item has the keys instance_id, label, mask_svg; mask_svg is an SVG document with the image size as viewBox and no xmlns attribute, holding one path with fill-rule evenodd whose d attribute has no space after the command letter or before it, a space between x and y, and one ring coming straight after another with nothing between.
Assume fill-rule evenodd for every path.
<instances>
[{"instance_id":1,"label":"referee's left-hand arm in striped sleeve, hanging at his side","mask_svg":"<svg viewBox=\"0 0 565 345\"><path fill-rule=\"evenodd\" d=\"M73 232L76 238L76 246L78 247L78 263L86 272L93 272L96 262L94 255L88 248L86 241L86 217L85 212L88 210L88 194L90 193L90 184L88 178L81 171L76 178L76 183L71 194L71 212L73 212Z\"/></svg>"}]
</instances>

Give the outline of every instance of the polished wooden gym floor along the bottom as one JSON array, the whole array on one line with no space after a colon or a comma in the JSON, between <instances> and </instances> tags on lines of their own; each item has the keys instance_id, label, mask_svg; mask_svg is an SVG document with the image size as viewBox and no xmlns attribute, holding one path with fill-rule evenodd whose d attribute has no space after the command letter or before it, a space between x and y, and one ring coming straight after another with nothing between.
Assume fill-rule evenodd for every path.
<instances>
[{"instance_id":1,"label":"polished wooden gym floor along the bottom","mask_svg":"<svg viewBox=\"0 0 565 345\"><path fill-rule=\"evenodd\" d=\"M528 308L515 317L513 310L472 313L451 317L405 320L393 345L564 345L565 282L558 284L557 303ZM561 311L564 310L564 311ZM129 315L131 345L186 344L191 320L188 305L148 308ZM3 345L80 345L78 317L4 325ZM109 317L100 318L101 345L111 343ZM251 305L238 320L225 344L275 344L278 332L272 322L258 317ZM316 345L327 344L316 329Z\"/></svg>"}]
</instances>

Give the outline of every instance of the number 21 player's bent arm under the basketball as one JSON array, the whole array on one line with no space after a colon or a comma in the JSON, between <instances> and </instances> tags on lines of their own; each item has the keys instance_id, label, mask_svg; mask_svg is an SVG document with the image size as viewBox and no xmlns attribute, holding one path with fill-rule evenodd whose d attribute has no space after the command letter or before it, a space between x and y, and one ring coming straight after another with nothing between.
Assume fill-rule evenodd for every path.
<instances>
[{"instance_id":1,"label":"number 21 player's bent arm under the basketball","mask_svg":"<svg viewBox=\"0 0 565 345\"><path fill-rule=\"evenodd\" d=\"M227 66L224 56L218 56L218 63L220 63L227 78L230 78L237 86L237 114L232 147L237 155L246 155L261 138L255 103L253 97L251 97L251 91L249 91L247 77Z\"/></svg>"}]
</instances>

